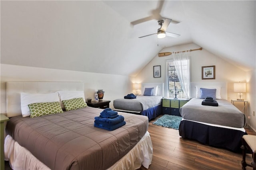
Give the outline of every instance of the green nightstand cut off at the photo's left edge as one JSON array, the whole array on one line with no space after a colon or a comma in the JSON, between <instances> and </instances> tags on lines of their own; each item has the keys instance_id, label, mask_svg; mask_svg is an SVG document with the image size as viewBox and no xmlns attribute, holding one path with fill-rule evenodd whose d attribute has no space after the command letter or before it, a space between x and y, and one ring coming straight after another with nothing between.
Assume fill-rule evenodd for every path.
<instances>
[{"instance_id":1,"label":"green nightstand cut off at the photo's left edge","mask_svg":"<svg viewBox=\"0 0 256 170\"><path fill-rule=\"evenodd\" d=\"M9 118L0 113L0 170L4 170L4 122Z\"/></svg>"}]
</instances>

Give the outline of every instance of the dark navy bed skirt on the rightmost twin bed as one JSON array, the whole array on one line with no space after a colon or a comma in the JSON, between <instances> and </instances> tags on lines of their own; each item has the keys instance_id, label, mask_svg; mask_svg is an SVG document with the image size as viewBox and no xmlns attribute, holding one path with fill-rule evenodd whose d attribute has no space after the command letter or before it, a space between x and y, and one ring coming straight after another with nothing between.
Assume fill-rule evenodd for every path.
<instances>
[{"instance_id":1,"label":"dark navy bed skirt on the rightmost twin bed","mask_svg":"<svg viewBox=\"0 0 256 170\"><path fill-rule=\"evenodd\" d=\"M194 139L213 147L221 147L238 152L242 146L242 136L247 133L235 129L182 120L180 122L179 134L182 138Z\"/></svg>"}]
</instances>

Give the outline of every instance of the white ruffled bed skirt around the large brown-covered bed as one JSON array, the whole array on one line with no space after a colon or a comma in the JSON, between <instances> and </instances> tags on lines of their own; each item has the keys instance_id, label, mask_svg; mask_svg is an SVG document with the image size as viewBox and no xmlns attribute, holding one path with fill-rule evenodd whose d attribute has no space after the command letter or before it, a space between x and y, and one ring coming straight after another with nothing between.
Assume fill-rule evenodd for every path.
<instances>
[{"instance_id":1,"label":"white ruffled bed skirt around the large brown-covered bed","mask_svg":"<svg viewBox=\"0 0 256 170\"><path fill-rule=\"evenodd\" d=\"M153 146L147 131L135 147L108 170L135 170L141 165L148 168L152 162L152 156ZM14 170L50 170L27 149L14 141L10 135L7 135L4 141L4 157L5 160L9 160L10 166Z\"/></svg>"}]
</instances>

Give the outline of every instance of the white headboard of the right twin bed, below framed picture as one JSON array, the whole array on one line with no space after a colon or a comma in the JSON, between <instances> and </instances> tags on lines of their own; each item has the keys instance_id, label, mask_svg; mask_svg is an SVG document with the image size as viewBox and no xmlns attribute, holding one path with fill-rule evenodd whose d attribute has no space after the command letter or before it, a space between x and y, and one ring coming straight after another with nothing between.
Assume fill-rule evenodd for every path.
<instances>
[{"instance_id":1,"label":"white headboard of the right twin bed, below framed picture","mask_svg":"<svg viewBox=\"0 0 256 170\"><path fill-rule=\"evenodd\" d=\"M228 100L227 82L191 82L190 83L190 98L196 97L196 86L215 87L220 86L220 96L222 99Z\"/></svg>"}]
</instances>

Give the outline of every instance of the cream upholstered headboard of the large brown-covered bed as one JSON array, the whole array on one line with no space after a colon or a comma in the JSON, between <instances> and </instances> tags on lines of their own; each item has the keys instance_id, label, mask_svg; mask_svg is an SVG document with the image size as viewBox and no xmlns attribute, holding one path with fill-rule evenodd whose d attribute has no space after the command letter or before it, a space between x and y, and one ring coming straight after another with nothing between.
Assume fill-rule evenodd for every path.
<instances>
[{"instance_id":1,"label":"cream upholstered headboard of the large brown-covered bed","mask_svg":"<svg viewBox=\"0 0 256 170\"><path fill-rule=\"evenodd\" d=\"M83 82L6 82L7 117L21 115L20 93L51 93L58 90L84 91Z\"/></svg>"}]
</instances>

